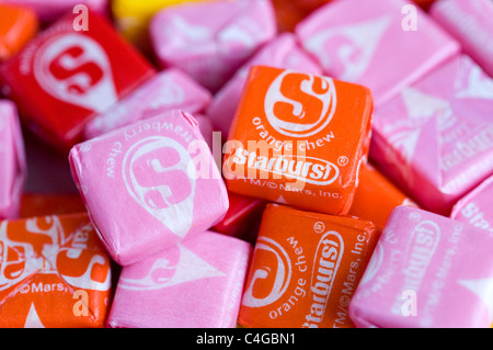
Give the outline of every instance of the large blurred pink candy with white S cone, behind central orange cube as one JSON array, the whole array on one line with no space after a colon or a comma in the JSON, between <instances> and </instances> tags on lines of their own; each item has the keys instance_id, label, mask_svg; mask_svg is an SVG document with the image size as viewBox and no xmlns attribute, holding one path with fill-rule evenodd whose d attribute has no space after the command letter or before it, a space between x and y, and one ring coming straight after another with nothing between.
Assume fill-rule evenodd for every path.
<instances>
[{"instance_id":1,"label":"large blurred pink candy with white S cone, behind central orange cube","mask_svg":"<svg viewBox=\"0 0 493 350\"><path fill-rule=\"evenodd\" d=\"M403 0L334 1L303 20L296 33L325 75L370 88L379 106L460 49L416 5L406 12L410 5Z\"/></svg>"}]
</instances>

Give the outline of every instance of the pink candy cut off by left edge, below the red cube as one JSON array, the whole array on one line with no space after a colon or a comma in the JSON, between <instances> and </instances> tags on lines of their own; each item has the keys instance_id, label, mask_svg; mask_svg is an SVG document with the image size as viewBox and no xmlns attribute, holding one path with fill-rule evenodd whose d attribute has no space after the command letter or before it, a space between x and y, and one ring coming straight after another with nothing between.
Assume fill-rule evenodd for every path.
<instances>
[{"instance_id":1,"label":"pink candy cut off by left edge, below the red cube","mask_svg":"<svg viewBox=\"0 0 493 350\"><path fill-rule=\"evenodd\" d=\"M24 143L15 104L0 100L0 221L20 214L26 178Z\"/></svg>"}]
</instances>

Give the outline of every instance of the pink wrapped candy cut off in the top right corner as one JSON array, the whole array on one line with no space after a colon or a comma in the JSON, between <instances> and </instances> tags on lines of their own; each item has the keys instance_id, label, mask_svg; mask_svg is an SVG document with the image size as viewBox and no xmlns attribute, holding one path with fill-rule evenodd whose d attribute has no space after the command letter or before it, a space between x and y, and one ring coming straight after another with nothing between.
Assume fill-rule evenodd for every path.
<instances>
[{"instance_id":1,"label":"pink wrapped candy cut off in the top right corner","mask_svg":"<svg viewBox=\"0 0 493 350\"><path fill-rule=\"evenodd\" d=\"M460 42L465 54L493 77L493 3L490 0L440 0L431 7L429 14Z\"/></svg>"}]
</instances>

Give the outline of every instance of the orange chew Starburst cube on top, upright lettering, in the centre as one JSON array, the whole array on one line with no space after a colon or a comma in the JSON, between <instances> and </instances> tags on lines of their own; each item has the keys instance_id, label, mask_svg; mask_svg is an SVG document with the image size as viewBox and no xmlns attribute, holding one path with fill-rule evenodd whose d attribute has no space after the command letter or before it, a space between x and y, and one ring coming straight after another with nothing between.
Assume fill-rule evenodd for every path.
<instances>
[{"instance_id":1,"label":"orange chew Starburst cube on top, upright lettering, in the centre","mask_svg":"<svg viewBox=\"0 0 493 350\"><path fill-rule=\"evenodd\" d=\"M225 145L228 190L346 214L368 154L371 111L365 87L253 67Z\"/></svg>"}]
</instances>

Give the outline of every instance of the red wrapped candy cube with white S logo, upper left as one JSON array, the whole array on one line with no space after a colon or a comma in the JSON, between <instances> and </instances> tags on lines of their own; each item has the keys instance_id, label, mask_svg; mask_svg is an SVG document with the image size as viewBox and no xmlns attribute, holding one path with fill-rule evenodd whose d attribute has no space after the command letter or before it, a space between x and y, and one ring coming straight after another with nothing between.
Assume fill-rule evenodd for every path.
<instances>
[{"instance_id":1,"label":"red wrapped candy cube with white S logo, upper left","mask_svg":"<svg viewBox=\"0 0 493 350\"><path fill-rule=\"evenodd\" d=\"M154 74L105 19L89 12L89 31L76 31L74 19L60 19L0 68L3 92L25 124L62 150Z\"/></svg>"}]
</instances>

